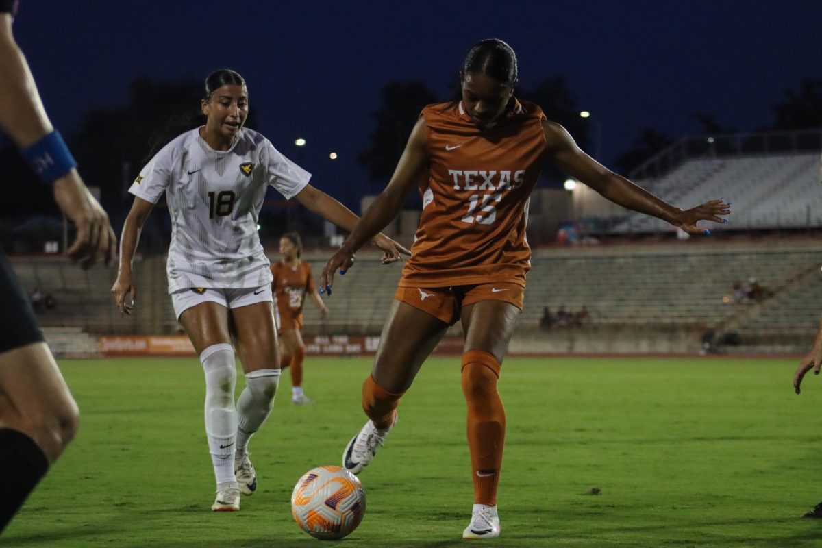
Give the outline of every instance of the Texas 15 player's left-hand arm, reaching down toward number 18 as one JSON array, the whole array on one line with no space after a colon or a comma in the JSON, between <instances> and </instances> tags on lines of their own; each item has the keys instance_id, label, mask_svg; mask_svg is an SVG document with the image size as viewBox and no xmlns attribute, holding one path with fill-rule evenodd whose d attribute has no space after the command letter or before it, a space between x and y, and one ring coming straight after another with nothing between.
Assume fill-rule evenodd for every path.
<instances>
[{"instance_id":1,"label":"Texas 15 player's left-hand arm, reaching down toward number 18","mask_svg":"<svg viewBox=\"0 0 822 548\"><path fill-rule=\"evenodd\" d=\"M386 189L372 203L371 207L360 219L357 226L353 227L351 234L346 238L334 256L326 263L322 269L320 277L320 291L330 295L331 284L334 283L334 274L339 269L340 274L353 265L353 254L371 239L376 233L386 228L388 223L394 219L399 210L402 209L406 196L418 182L419 176L426 168L427 158L425 152L425 118L420 117L414 125L409 136L408 144L405 145L403 155L397 163L397 168ZM403 248L405 254L410 255L410 251Z\"/></svg>"}]
</instances>

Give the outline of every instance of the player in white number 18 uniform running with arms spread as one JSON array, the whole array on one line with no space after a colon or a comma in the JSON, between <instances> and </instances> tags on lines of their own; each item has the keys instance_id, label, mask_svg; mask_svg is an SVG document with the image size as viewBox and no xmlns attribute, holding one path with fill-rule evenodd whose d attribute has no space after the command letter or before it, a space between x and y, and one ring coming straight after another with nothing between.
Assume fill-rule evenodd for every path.
<instances>
[{"instance_id":1,"label":"player in white number 18 uniform running with arms spread","mask_svg":"<svg viewBox=\"0 0 822 548\"><path fill-rule=\"evenodd\" d=\"M217 482L211 509L230 512L239 509L241 492L256 490L248 441L269 416L279 383L270 265L256 230L266 189L275 187L342 228L353 228L358 217L309 185L311 174L266 137L242 127L248 90L237 72L212 73L201 108L205 125L159 150L129 189L135 199L122 228L112 293L129 313L140 231L165 193L172 221L169 293L205 371L205 433ZM385 251L384 263L409 253L383 235L374 242ZM235 348L246 377L236 408Z\"/></svg>"}]
</instances>

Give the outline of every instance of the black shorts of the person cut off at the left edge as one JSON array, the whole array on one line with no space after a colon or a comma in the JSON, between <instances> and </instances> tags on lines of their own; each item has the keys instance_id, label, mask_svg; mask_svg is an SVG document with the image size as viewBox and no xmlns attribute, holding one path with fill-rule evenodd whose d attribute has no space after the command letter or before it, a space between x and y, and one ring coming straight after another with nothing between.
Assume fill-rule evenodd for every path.
<instances>
[{"instance_id":1,"label":"black shorts of the person cut off at the left edge","mask_svg":"<svg viewBox=\"0 0 822 548\"><path fill-rule=\"evenodd\" d=\"M29 297L0 246L0 352L44 340Z\"/></svg>"}]
</instances>

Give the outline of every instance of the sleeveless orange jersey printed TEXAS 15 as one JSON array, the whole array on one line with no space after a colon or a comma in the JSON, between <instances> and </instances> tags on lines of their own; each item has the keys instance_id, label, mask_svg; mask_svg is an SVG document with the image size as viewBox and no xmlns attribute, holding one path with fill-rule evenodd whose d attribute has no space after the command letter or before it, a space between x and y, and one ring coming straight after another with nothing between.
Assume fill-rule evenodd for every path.
<instances>
[{"instance_id":1,"label":"sleeveless orange jersey printed TEXAS 15","mask_svg":"<svg viewBox=\"0 0 822 548\"><path fill-rule=\"evenodd\" d=\"M496 122L471 122L462 103L423 108L428 173L423 214L401 287L525 285L528 200L546 161L543 110L516 101Z\"/></svg>"}]
</instances>

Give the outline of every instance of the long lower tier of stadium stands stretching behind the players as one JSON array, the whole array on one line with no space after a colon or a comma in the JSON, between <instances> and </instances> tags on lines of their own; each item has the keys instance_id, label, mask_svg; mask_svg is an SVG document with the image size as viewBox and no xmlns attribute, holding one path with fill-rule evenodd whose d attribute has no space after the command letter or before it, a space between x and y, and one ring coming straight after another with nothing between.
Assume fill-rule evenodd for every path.
<instances>
[{"instance_id":1,"label":"long lower tier of stadium stands stretching behind the players","mask_svg":"<svg viewBox=\"0 0 822 548\"><path fill-rule=\"evenodd\" d=\"M327 253L307 254L315 279ZM113 271L88 272L55 259L16 259L27 290L39 287L58 299L39 314L44 327L91 334L173 334L180 326L165 293L164 260L139 261L135 314L122 316L111 302ZM522 332L538 330L543 306L578 311L603 328L733 329L743 334L812 334L822 306L822 257L811 241L681 242L541 249L528 276ZM331 315L322 319L307 302L307 334L379 334L399 279L400 265L380 265L376 253L338 277ZM755 277L774 297L756 304L728 302L732 284ZM153 281L152 281L153 280ZM56 291L55 291L56 290ZM459 327L455 327L455 333Z\"/></svg>"}]
</instances>

